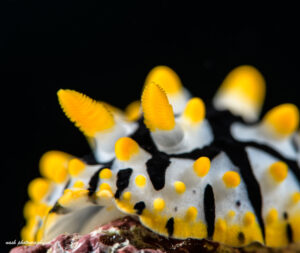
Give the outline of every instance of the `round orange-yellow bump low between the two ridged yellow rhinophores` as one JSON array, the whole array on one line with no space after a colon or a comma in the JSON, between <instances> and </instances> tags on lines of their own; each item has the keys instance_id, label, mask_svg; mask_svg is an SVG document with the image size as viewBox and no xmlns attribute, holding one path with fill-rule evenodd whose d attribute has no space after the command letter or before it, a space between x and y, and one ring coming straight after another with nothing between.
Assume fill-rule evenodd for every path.
<instances>
[{"instance_id":1,"label":"round orange-yellow bump low between the two ridged yellow rhinophores","mask_svg":"<svg viewBox=\"0 0 300 253\"><path fill-rule=\"evenodd\" d=\"M115 144L116 157L120 161L128 161L139 152L139 145L129 137L122 137Z\"/></svg>"}]
</instances>

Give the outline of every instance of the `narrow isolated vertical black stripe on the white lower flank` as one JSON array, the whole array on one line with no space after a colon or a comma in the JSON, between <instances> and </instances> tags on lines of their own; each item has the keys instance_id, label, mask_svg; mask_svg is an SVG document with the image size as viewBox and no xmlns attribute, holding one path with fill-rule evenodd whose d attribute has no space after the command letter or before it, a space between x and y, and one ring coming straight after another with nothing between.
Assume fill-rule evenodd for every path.
<instances>
[{"instance_id":1,"label":"narrow isolated vertical black stripe on the white lower flank","mask_svg":"<svg viewBox=\"0 0 300 253\"><path fill-rule=\"evenodd\" d=\"M207 237L212 239L215 230L215 197L211 185L206 185L204 190L204 215L207 224Z\"/></svg>"}]
</instances>

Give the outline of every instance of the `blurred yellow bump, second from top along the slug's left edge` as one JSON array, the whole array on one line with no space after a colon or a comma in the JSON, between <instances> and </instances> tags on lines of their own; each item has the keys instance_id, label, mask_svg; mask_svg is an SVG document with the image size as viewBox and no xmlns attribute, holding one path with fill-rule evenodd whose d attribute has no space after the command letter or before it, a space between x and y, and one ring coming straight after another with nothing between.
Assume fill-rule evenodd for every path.
<instances>
[{"instance_id":1,"label":"blurred yellow bump, second from top along the slug's left edge","mask_svg":"<svg viewBox=\"0 0 300 253\"><path fill-rule=\"evenodd\" d=\"M50 183L44 178L33 179L28 185L28 195L35 201L41 201L49 192Z\"/></svg>"}]
</instances>

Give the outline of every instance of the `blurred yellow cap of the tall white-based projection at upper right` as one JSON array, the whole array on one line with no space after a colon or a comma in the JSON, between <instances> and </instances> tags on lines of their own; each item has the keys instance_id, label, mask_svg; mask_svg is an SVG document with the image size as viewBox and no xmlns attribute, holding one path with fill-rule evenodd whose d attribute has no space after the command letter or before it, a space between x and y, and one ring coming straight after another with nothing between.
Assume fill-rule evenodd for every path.
<instances>
[{"instance_id":1,"label":"blurred yellow cap of the tall white-based projection at upper right","mask_svg":"<svg viewBox=\"0 0 300 253\"><path fill-rule=\"evenodd\" d=\"M220 88L221 92L241 95L260 108L264 102L266 84L262 74L249 65L233 69L224 79Z\"/></svg>"}]
</instances>

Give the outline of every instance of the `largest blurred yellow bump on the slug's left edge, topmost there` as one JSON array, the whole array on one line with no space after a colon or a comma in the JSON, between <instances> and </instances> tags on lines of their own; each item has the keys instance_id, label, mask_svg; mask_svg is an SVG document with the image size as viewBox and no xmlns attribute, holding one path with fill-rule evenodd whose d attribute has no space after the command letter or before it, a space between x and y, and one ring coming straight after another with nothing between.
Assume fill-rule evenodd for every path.
<instances>
[{"instance_id":1,"label":"largest blurred yellow bump on the slug's left edge, topmost there","mask_svg":"<svg viewBox=\"0 0 300 253\"><path fill-rule=\"evenodd\" d=\"M69 154L60 151L48 151L40 159L39 167L42 176L56 183L63 183L68 177Z\"/></svg>"}]
</instances>

